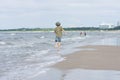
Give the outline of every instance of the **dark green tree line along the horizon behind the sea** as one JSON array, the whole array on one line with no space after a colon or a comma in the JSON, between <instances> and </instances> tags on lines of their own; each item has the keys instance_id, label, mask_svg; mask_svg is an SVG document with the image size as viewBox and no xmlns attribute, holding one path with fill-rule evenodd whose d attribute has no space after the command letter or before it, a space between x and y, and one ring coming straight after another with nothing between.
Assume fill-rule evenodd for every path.
<instances>
[{"instance_id":1,"label":"dark green tree line along the horizon behind the sea","mask_svg":"<svg viewBox=\"0 0 120 80\"><path fill-rule=\"evenodd\" d=\"M97 28L97 27L71 27L71 28L64 28L66 31L79 31L79 30L120 30L120 26L116 26L114 28ZM4 29L0 31L53 31L53 28L19 28L19 29Z\"/></svg>"}]
</instances>

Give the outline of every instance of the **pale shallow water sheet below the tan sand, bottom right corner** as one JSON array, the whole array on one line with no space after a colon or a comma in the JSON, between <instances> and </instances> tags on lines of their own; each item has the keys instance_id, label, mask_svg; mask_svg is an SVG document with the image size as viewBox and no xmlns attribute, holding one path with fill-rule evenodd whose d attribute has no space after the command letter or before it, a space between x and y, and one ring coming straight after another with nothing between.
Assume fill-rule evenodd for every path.
<instances>
[{"instance_id":1,"label":"pale shallow water sheet below the tan sand, bottom right corner","mask_svg":"<svg viewBox=\"0 0 120 80\"><path fill-rule=\"evenodd\" d=\"M64 80L120 80L120 71L74 69L67 72Z\"/></svg>"}]
</instances>

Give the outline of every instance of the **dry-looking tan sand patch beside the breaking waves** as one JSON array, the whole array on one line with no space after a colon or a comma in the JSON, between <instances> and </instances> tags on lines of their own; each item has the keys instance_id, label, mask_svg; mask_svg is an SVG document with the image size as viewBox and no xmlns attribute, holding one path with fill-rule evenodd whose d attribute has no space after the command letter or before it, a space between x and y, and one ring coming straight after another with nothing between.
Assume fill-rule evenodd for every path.
<instances>
[{"instance_id":1,"label":"dry-looking tan sand patch beside the breaking waves","mask_svg":"<svg viewBox=\"0 0 120 80\"><path fill-rule=\"evenodd\" d=\"M61 70L94 69L120 71L120 46L84 46L53 67ZM88 49L88 50L87 50Z\"/></svg>"}]
</instances>

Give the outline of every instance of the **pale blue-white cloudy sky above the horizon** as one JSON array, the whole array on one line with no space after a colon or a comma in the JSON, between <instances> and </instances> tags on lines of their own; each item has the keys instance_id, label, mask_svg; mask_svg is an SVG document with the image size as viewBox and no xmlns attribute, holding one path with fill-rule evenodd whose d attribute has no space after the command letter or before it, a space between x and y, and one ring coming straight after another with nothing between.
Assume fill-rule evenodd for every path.
<instances>
[{"instance_id":1,"label":"pale blue-white cloudy sky above the horizon","mask_svg":"<svg viewBox=\"0 0 120 80\"><path fill-rule=\"evenodd\" d=\"M120 21L120 0L0 0L0 29L97 27Z\"/></svg>"}]
</instances>

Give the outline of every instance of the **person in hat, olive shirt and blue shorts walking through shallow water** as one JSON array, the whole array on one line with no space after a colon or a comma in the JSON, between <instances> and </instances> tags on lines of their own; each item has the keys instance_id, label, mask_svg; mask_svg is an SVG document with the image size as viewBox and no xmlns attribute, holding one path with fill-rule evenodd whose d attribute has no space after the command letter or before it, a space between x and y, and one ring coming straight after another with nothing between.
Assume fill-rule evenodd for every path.
<instances>
[{"instance_id":1,"label":"person in hat, olive shirt and blue shorts walking through shallow water","mask_svg":"<svg viewBox=\"0 0 120 80\"><path fill-rule=\"evenodd\" d=\"M55 47L60 49L61 47L61 38L62 38L62 32L64 31L64 29L61 26L60 22L56 22L56 28L54 29L55 32Z\"/></svg>"}]
</instances>

